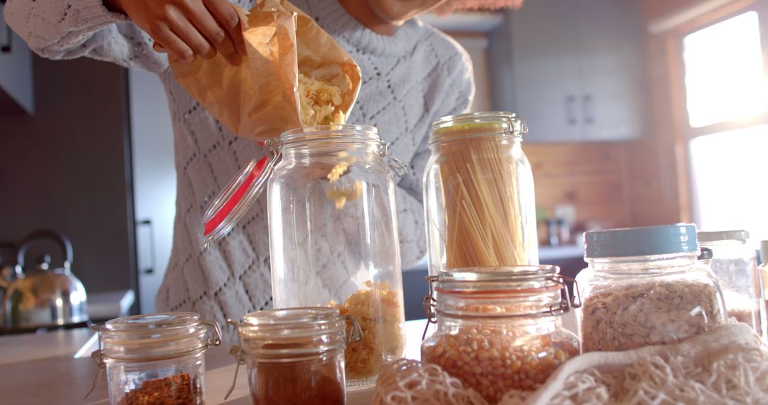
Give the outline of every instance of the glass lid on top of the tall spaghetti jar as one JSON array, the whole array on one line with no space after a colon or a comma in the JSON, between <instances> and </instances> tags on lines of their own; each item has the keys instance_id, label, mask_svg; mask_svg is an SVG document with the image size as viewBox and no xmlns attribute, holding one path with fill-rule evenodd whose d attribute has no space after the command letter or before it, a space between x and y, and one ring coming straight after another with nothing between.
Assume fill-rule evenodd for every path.
<instances>
[{"instance_id":1,"label":"glass lid on top of the tall spaghetti jar","mask_svg":"<svg viewBox=\"0 0 768 405\"><path fill-rule=\"evenodd\" d=\"M515 113L486 111L449 115L432 123L429 143L488 135L519 138L528 133L525 121Z\"/></svg>"}]
</instances>

